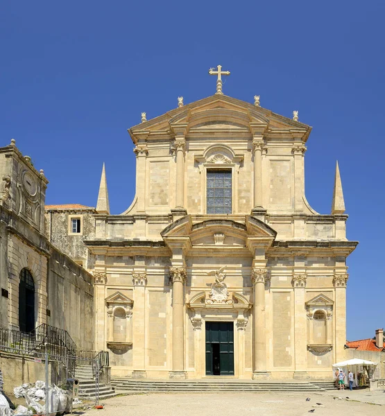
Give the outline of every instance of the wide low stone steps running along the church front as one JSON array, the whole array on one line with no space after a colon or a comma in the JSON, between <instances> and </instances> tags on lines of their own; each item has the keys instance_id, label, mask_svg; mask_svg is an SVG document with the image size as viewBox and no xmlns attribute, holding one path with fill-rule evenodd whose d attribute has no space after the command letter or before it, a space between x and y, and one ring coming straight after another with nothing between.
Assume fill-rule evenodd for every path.
<instances>
[{"instance_id":1,"label":"wide low stone steps running along the church front","mask_svg":"<svg viewBox=\"0 0 385 416\"><path fill-rule=\"evenodd\" d=\"M334 389L330 380L253 381L237 379L159 380L113 377L111 383L121 392L316 392Z\"/></svg>"}]
</instances>

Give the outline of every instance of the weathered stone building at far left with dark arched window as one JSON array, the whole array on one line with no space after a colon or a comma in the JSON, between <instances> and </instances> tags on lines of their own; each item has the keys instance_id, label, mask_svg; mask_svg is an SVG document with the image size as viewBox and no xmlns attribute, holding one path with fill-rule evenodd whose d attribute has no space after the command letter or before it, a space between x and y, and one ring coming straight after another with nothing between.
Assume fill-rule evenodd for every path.
<instances>
[{"instance_id":1,"label":"weathered stone building at far left with dark arched window","mask_svg":"<svg viewBox=\"0 0 385 416\"><path fill-rule=\"evenodd\" d=\"M78 349L94 349L92 275L47 239L48 180L13 139L0 148L0 179L0 329L49 324L68 331Z\"/></svg>"}]
</instances>

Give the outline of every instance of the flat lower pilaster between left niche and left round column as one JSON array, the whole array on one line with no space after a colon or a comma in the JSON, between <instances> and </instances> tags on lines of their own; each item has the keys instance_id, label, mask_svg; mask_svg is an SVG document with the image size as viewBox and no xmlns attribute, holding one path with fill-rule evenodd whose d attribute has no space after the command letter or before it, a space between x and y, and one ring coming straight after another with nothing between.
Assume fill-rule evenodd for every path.
<instances>
[{"instance_id":1,"label":"flat lower pilaster between left niche and left round column","mask_svg":"<svg viewBox=\"0 0 385 416\"><path fill-rule=\"evenodd\" d=\"M146 272L135 270L132 273L132 282L134 284L132 378L144 379L146 378Z\"/></svg>"}]
</instances>

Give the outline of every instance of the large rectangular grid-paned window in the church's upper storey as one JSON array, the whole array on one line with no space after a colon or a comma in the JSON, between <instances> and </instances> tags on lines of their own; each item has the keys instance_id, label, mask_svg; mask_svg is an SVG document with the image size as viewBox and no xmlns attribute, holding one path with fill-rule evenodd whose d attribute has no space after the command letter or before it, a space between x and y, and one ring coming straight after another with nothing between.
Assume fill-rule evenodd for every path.
<instances>
[{"instance_id":1,"label":"large rectangular grid-paned window in the church's upper storey","mask_svg":"<svg viewBox=\"0 0 385 416\"><path fill-rule=\"evenodd\" d=\"M207 170L207 214L232 213L232 172Z\"/></svg>"}]
</instances>

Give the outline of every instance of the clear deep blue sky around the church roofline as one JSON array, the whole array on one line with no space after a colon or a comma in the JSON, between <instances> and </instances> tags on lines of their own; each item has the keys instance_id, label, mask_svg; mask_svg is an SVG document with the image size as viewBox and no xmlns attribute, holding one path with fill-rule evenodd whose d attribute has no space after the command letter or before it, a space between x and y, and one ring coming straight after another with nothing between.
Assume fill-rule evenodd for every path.
<instances>
[{"instance_id":1,"label":"clear deep blue sky around the church roofline","mask_svg":"<svg viewBox=\"0 0 385 416\"><path fill-rule=\"evenodd\" d=\"M365 6L363 6L365 4ZM330 213L339 160L348 238L348 339L384 327L383 1L6 1L0 6L1 146L13 137L50 184L46 202L112 214L135 193L126 131L223 91L313 126L307 199Z\"/></svg>"}]
</instances>

